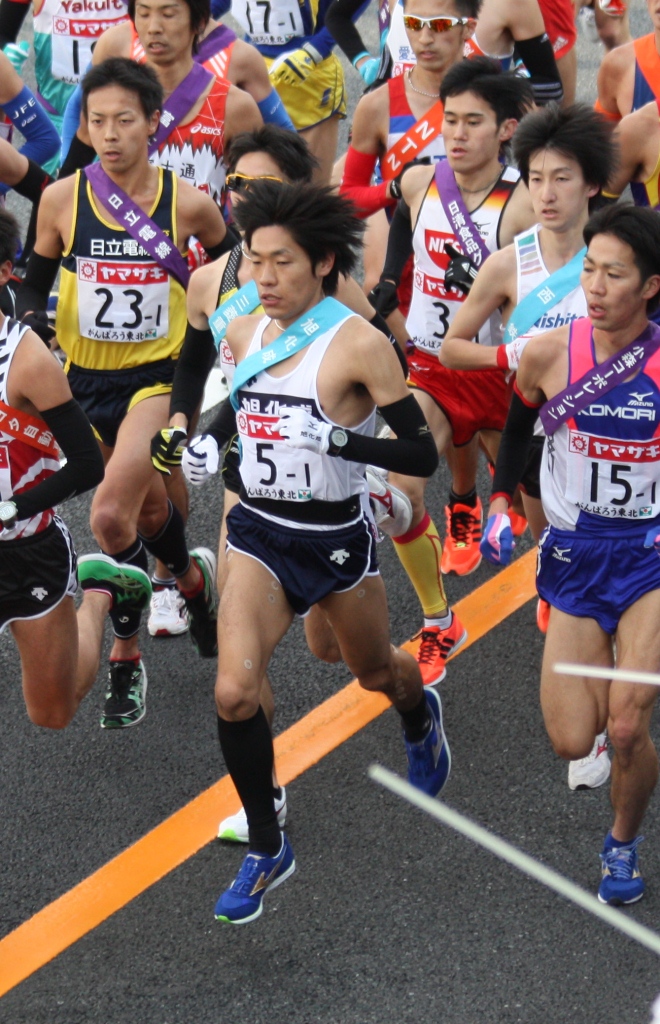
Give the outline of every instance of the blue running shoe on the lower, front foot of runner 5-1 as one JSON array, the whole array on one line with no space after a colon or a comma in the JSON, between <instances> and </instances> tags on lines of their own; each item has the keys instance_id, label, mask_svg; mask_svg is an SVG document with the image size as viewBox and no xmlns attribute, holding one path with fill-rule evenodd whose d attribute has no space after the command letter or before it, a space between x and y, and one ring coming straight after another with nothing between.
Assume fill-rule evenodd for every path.
<instances>
[{"instance_id":1,"label":"blue running shoe on the lower, front foot of runner 5-1","mask_svg":"<svg viewBox=\"0 0 660 1024\"><path fill-rule=\"evenodd\" d=\"M282 833L281 850L276 857L248 854L235 879L216 903L216 921L227 921L230 925L256 921L263 910L266 892L281 885L295 870L294 851Z\"/></svg>"}]
</instances>

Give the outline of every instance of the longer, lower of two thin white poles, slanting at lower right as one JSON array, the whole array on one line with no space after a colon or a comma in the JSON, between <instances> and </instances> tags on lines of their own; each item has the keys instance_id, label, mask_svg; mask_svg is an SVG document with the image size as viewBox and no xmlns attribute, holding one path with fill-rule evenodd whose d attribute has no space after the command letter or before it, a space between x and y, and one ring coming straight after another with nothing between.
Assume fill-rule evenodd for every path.
<instances>
[{"instance_id":1,"label":"longer, lower of two thin white poles, slanting at lower right","mask_svg":"<svg viewBox=\"0 0 660 1024\"><path fill-rule=\"evenodd\" d=\"M471 821L465 814L459 814L458 811L452 810L441 801L435 800L433 797L428 797L425 793L416 790L409 782L405 782L398 775L388 771L386 768L382 768L380 765L371 765L369 776L376 782L384 785L386 790L390 790L396 794L397 797L403 797L408 803L414 804L415 807L420 807L427 814L437 818L438 821L442 821L443 824L454 828L461 836L465 836L467 839L472 840L473 843L477 843L478 846L482 846L485 850L488 850L489 853L493 853L496 857L499 857L500 860L505 860L509 864L517 867L523 874L528 874L536 882L540 882L541 885L547 886L548 889L554 889L560 896L564 896L565 899L576 903L583 910L592 913L595 918L600 918L612 928L623 932L624 935L634 939L640 945L646 946L647 949L660 956L660 935L651 931L650 928L646 928L636 921L632 921L613 906L599 902L596 896L591 896L585 889L576 886L574 882L570 882L563 874L560 874L559 871L555 871L539 860L535 860L528 854L523 853L522 850L518 850L517 847L512 846L511 843L508 843L503 839L499 839L498 836L493 836L486 828L482 828L481 825Z\"/></svg>"}]
</instances>

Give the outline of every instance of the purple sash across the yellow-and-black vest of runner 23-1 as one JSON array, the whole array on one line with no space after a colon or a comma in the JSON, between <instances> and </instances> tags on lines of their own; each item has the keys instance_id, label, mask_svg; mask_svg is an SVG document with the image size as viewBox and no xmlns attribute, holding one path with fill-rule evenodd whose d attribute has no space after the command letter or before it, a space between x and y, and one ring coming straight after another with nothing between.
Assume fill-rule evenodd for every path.
<instances>
[{"instance_id":1,"label":"purple sash across the yellow-and-black vest of runner 23-1","mask_svg":"<svg viewBox=\"0 0 660 1024\"><path fill-rule=\"evenodd\" d=\"M165 172L164 172L165 173ZM112 217L118 220L132 239L167 270L185 290L190 271L188 264L171 239L156 224L144 210L140 210L130 196L116 185L100 164L90 164L85 174L96 198Z\"/></svg>"}]
</instances>

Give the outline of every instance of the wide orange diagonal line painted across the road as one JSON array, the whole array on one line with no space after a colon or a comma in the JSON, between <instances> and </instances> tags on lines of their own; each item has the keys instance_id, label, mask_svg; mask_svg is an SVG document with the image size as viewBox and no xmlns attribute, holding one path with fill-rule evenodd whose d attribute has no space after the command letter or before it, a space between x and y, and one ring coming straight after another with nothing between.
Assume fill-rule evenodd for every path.
<instances>
[{"instance_id":1,"label":"wide orange diagonal line painted across the road","mask_svg":"<svg viewBox=\"0 0 660 1024\"><path fill-rule=\"evenodd\" d=\"M458 654L534 596L534 558L535 552L528 552L455 605L470 634ZM280 781L297 778L389 707L384 696L349 683L276 737ZM197 853L215 839L218 821L235 812L236 802L225 775L10 932L0 941L0 996Z\"/></svg>"}]
</instances>

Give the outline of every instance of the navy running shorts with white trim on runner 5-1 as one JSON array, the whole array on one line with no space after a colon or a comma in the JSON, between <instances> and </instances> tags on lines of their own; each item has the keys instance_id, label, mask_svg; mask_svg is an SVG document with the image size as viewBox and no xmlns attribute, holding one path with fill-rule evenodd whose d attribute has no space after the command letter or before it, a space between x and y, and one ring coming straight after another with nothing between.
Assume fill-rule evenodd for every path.
<instances>
[{"instance_id":1,"label":"navy running shorts with white trim on runner 5-1","mask_svg":"<svg viewBox=\"0 0 660 1024\"><path fill-rule=\"evenodd\" d=\"M301 529L238 504L227 515L227 548L261 562L298 615L328 594L343 594L364 577L379 575L375 527L364 515L339 529Z\"/></svg>"}]
</instances>

